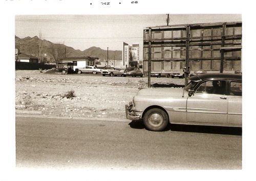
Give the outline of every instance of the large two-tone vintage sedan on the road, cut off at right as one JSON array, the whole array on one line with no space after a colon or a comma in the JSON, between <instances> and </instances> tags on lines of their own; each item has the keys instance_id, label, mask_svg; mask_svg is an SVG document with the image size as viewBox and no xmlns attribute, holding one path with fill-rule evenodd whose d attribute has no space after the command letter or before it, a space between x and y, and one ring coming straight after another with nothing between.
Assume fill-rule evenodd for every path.
<instances>
[{"instance_id":1,"label":"large two-tone vintage sedan on the road, cut off at right","mask_svg":"<svg viewBox=\"0 0 256 181\"><path fill-rule=\"evenodd\" d=\"M182 88L145 88L125 105L126 118L151 131L168 123L242 127L242 75L203 73Z\"/></svg>"}]
</instances>

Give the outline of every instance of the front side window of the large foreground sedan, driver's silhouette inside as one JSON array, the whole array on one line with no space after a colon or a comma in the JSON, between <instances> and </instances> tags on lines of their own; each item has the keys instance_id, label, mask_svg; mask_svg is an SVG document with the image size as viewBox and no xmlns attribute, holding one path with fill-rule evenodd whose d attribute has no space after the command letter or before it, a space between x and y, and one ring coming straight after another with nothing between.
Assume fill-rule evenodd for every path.
<instances>
[{"instance_id":1,"label":"front side window of the large foreground sedan, driver's silhouette inside","mask_svg":"<svg viewBox=\"0 0 256 181\"><path fill-rule=\"evenodd\" d=\"M197 88L196 92L206 94L225 94L226 81L205 81Z\"/></svg>"}]
</instances>

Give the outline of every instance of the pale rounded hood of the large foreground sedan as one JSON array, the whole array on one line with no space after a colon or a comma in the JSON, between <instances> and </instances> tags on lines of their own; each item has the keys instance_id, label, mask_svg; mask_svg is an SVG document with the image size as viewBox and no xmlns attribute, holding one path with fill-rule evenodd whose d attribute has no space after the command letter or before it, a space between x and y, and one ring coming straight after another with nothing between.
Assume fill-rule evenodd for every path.
<instances>
[{"instance_id":1,"label":"pale rounded hood of the large foreground sedan","mask_svg":"<svg viewBox=\"0 0 256 181\"><path fill-rule=\"evenodd\" d=\"M181 97L183 95L182 88L145 88L137 92L137 96L168 96Z\"/></svg>"}]
</instances>

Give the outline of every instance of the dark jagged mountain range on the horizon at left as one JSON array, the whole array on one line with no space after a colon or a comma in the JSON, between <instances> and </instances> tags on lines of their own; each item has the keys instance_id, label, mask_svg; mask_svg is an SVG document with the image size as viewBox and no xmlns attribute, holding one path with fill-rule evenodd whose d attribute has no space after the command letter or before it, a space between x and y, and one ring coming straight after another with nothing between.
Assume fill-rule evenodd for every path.
<instances>
[{"instance_id":1,"label":"dark jagged mountain range on the horizon at left","mask_svg":"<svg viewBox=\"0 0 256 181\"><path fill-rule=\"evenodd\" d=\"M39 48L40 47L40 48ZM100 60L106 60L108 53L99 47L92 46L83 51L74 49L64 44L52 43L48 40L41 40L37 36L19 38L15 36L15 48L19 49L20 53L37 57L39 61L45 55L50 59L50 63L55 63L56 58L63 57L97 57ZM109 50L109 60L122 60L121 50Z\"/></svg>"}]
</instances>

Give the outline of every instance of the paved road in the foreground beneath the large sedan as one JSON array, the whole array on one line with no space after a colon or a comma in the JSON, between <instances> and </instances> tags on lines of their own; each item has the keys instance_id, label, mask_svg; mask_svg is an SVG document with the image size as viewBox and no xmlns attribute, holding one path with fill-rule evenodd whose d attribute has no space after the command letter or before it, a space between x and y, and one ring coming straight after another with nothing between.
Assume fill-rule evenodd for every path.
<instances>
[{"instance_id":1,"label":"paved road in the foreground beneath the large sedan","mask_svg":"<svg viewBox=\"0 0 256 181\"><path fill-rule=\"evenodd\" d=\"M16 115L16 166L87 169L241 169L239 128Z\"/></svg>"}]
</instances>

